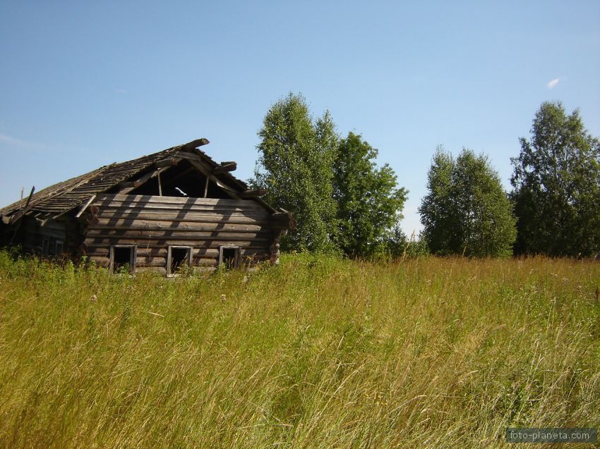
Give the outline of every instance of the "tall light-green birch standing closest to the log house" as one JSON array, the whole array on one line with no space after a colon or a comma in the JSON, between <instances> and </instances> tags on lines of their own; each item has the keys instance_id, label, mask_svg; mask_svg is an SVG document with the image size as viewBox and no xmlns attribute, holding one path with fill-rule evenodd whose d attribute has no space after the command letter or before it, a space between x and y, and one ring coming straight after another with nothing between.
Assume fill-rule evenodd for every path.
<instances>
[{"instance_id":1,"label":"tall light-green birch standing closest to the log house","mask_svg":"<svg viewBox=\"0 0 600 449\"><path fill-rule=\"evenodd\" d=\"M296 219L296 229L282 239L282 249L334 250L332 162L337 135L330 114L325 111L314 120L306 99L290 93L271 106L258 135L259 159L251 183L267 190L267 202L293 211Z\"/></svg>"}]
</instances>

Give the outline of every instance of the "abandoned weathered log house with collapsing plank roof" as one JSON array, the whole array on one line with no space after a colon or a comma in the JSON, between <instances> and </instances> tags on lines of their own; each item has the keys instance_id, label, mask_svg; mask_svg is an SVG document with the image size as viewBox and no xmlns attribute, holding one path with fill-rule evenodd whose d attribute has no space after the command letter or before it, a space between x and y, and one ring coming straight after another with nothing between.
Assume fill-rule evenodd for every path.
<instances>
[{"instance_id":1,"label":"abandoned weathered log house with collapsing plank roof","mask_svg":"<svg viewBox=\"0 0 600 449\"><path fill-rule=\"evenodd\" d=\"M188 267L278 264L292 214L232 176L235 162L217 164L198 149L205 144L194 140L32 189L0 209L0 247L165 276Z\"/></svg>"}]
</instances>

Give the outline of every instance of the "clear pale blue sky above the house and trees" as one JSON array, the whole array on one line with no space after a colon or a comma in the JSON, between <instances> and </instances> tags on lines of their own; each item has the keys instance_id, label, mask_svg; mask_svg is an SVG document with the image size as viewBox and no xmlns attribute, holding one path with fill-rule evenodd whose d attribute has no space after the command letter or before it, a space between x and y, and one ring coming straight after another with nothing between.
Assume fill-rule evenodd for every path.
<instances>
[{"instance_id":1,"label":"clear pale blue sky above the house and trees","mask_svg":"<svg viewBox=\"0 0 600 449\"><path fill-rule=\"evenodd\" d=\"M600 136L600 1L0 0L0 206L198 137L250 178L288 92L379 149L411 233L438 144L508 188L541 102Z\"/></svg>"}]
</instances>

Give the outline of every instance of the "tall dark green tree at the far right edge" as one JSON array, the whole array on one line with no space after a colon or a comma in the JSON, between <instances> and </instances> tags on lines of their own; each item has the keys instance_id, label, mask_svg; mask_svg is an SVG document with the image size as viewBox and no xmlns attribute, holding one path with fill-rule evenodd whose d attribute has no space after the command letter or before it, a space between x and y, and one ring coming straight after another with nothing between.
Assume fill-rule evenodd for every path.
<instances>
[{"instance_id":1,"label":"tall dark green tree at the far right edge","mask_svg":"<svg viewBox=\"0 0 600 449\"><path fill-rule=\"evenodd\" d=\"M545 102L512 159L517 254L590 256L600 250L600 141L579 111Z\"/></svg>"}]
</instances>

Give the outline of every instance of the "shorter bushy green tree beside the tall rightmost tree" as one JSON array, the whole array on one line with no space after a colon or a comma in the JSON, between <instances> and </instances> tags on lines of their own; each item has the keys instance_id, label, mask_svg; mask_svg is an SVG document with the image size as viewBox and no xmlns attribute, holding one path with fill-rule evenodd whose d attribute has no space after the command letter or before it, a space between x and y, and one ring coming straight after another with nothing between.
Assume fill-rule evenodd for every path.
<instances>
[{"instance_id":1,"label":"shorter bushy green tree beside the tall rightmost tree","mask_svg":"<svg viewBox=\"0 0 600 449\"><path fill-rule=\"evenodd\" d=\"M508 256L515 218L487 156L463 149L457 159L438 147L419 212L422 238L434 254Z\"/></svg>"}]
</instances>

